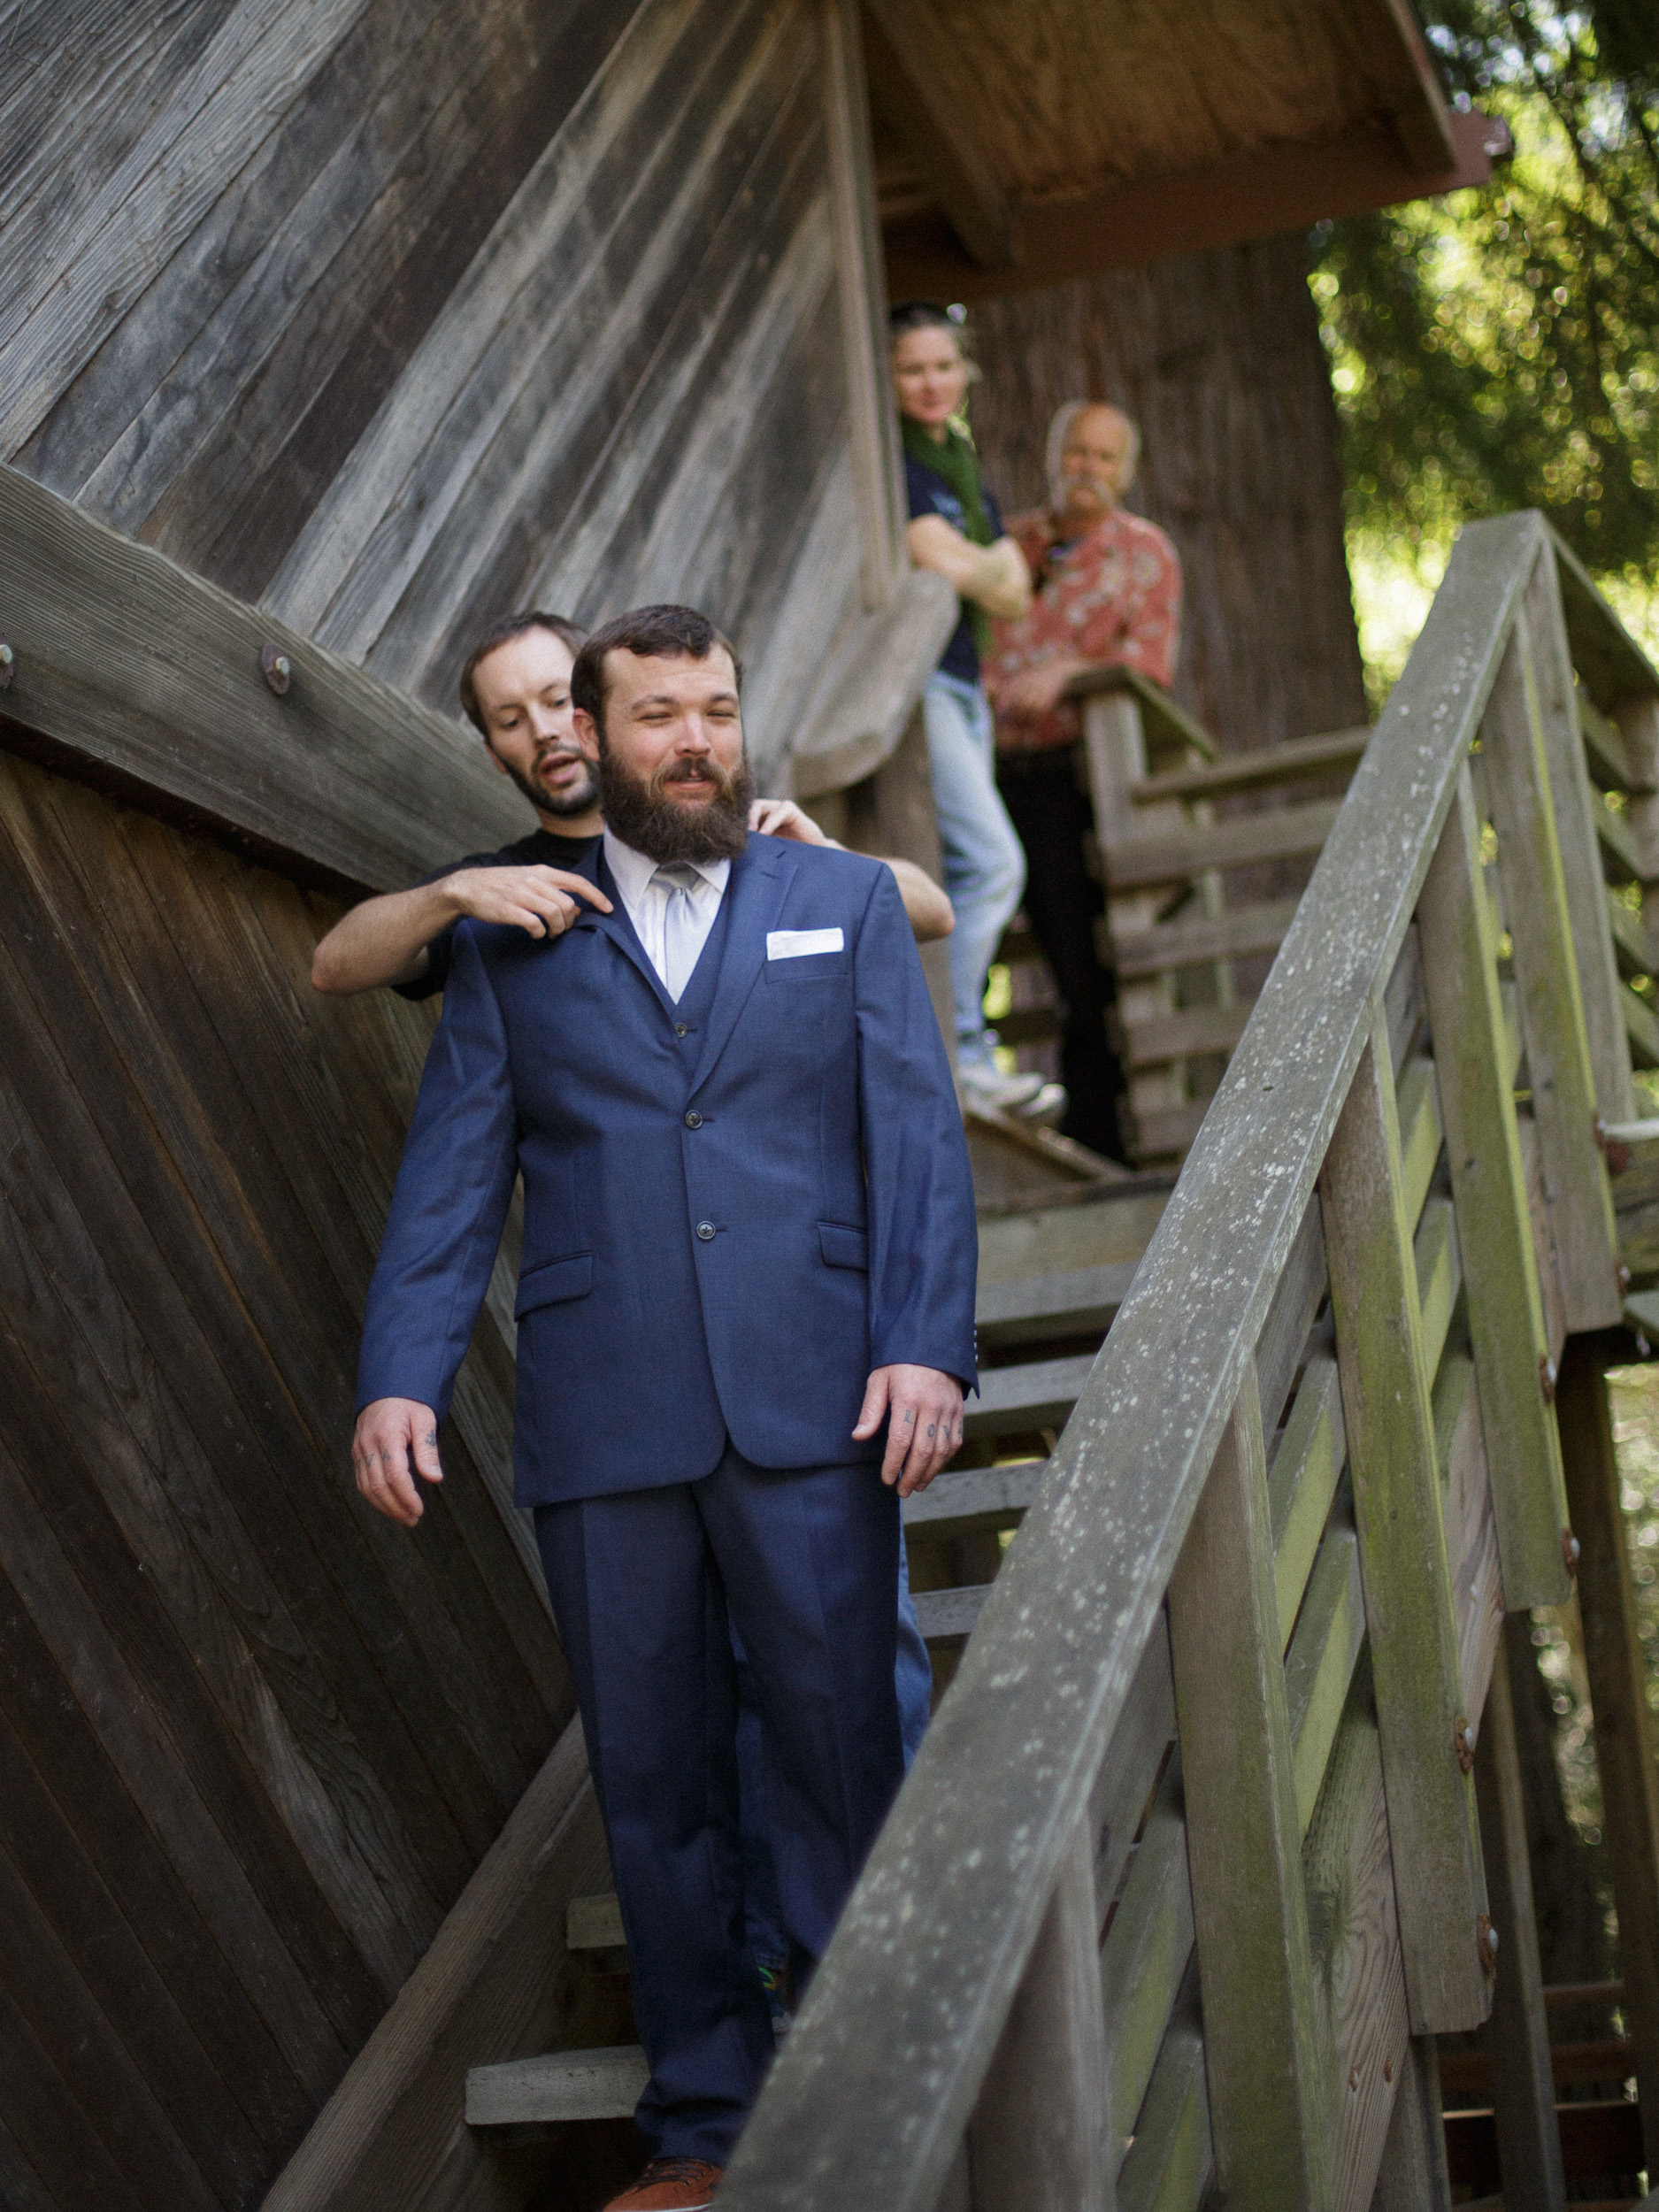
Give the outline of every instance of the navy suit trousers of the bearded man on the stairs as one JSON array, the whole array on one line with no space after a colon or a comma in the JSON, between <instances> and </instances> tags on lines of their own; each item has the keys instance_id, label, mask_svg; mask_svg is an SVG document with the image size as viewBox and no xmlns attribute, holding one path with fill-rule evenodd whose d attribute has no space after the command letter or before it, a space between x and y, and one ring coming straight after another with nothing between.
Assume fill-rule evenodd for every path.
<instances>
[{"instance_id":1,"label":"navy suit trousers of the bearded man on the stairs","mask_svg":"<svg viewBox=\"0 0 1659 2212\"><path fill-rule=\"evenodd\" d=\"M902 1776L898 1500L869 1464L774 1473L728 1444L703 1482L540 1506L535 1535L650 2062L635 2117L664 2154L723 2166L772 2057L743 1936L730 1626L761 1701L783 1924L810 1964Z\"/></svg>"}]
</instances>

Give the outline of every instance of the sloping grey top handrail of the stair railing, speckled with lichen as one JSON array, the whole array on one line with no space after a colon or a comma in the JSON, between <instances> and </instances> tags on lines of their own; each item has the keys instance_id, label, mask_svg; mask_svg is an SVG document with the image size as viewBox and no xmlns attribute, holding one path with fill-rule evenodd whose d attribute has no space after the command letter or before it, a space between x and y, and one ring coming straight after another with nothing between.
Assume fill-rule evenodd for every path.
<instances>
[{"instance_id":1,"label":"sloping grey top handrail of the stair railing, speckled with lichen","mask_svg":"<svg viewBox=\"0 0 1659 2212\"><path fill-rule=\"evenodd\" d=\"M1471 524L1458 540L1135 1287L739 2146L728 2212L938 2203L1535 571L1553 599L1551 533L1535 513ZM1604 664L1635 666L1610 648Z\"/></svg>"}]
</instances>

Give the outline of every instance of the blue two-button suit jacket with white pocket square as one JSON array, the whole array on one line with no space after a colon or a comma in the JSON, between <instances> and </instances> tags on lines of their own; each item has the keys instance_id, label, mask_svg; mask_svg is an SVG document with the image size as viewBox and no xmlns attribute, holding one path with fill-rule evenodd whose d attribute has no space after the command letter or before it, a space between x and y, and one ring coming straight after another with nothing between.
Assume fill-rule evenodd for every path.
<instances>
[{"instance_id":1,"label":"blue two-button suit jacket with white pocket square","mask_svg":"<svg viewBox=\"0 0 1659 2212\"><path fill-rule=\"evenodd\" d=\"M894 876L752 836L688 1073L597 849L586 872L613 914L456 936L358 1405L447 1411L522 1172L520 1504L695 1482L728 1436L759 1467L874 1458L872 1367L975 1380L967 1144ZM768 958L834 927L841 951Z\"/></svg>"}]
</instances>

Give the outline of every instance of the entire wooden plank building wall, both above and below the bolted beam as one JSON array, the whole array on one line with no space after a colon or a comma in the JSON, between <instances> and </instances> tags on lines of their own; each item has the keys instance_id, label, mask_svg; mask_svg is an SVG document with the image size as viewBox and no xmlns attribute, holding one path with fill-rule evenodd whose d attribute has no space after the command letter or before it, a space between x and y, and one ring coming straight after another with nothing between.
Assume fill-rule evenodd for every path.
<instances>
[{"instance_id":1,"label":"entire wooden plank building wall, both above and below the bolted beam","mask_svg":"<svg viewBox=\"0 0 1659 2212\"><path fill-rule=\"evenodd\" d=\"M422 721L405 805L396 695L524 604L701 604L787 781L902 599L856 13L22 0L0 58L0 2205L241 2212L573 1717L511 1296L420 1531L352 1489L429 1015L312 993L301 885L385 885L376 783L449 856L480 794ZM274 701L82 515L394 690L294 646Z\"/></svg>"}]
</instances>

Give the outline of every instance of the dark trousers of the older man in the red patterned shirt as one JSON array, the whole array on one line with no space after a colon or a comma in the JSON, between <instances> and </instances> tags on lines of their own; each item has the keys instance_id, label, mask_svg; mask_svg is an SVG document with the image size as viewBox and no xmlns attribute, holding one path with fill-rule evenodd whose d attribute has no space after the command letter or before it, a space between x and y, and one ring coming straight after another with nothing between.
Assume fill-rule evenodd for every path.
<instances>
[{"instance_id":1,"label":"dark trousers of the older man in the red patterned shirt","mask_svg":"<svg viewBox=\"0 0 1659 2212\"><path fill-rule=\"evenodd\" d=\"M1106 1037L1106 1009L1117 995L1095 951L1104 911L1099 885L1084 865L1093 807L1077 785L1075 748L1004 754L998 790L1026 849L1024 911L1048 962L1064 1006L1060 1079L1066 1086L1066 1137L1124 1159L1117 1095L1124 1071Z\"/></svg>"}]
</instances>

